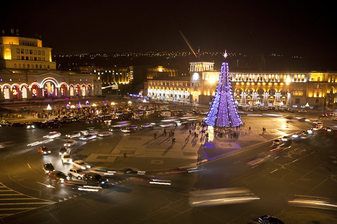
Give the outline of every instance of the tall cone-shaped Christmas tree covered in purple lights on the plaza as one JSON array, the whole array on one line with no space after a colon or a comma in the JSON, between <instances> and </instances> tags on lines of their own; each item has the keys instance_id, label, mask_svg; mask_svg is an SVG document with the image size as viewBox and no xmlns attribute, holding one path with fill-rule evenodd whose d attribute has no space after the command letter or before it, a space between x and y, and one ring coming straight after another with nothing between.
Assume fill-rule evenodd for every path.
<instances>
[{"instance_id":1,"label":"tall cone-shaped Christmas tree covered in purple lights on the plaza","mask_svg":"<svg viewBox=\"0 0 337 224\"><path fill-rule=\"evenodd\" d=\"M242 125L233 97L227 62L222 63L219 84L205 122L213 127L236 127Z\"/></svg>"}]
</instances>

